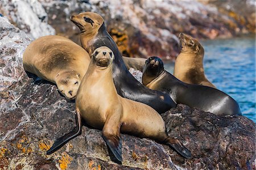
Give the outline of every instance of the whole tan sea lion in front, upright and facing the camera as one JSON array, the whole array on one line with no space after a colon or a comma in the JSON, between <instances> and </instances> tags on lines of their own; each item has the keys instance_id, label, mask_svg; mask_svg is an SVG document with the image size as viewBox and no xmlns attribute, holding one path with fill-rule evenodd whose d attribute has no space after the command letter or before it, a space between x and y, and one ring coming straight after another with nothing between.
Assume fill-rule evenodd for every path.
<instances>
[{"instance_id":1,"label":"whole tan sea lion in front, upright and facing the camera","mask_svg":"<svg viewBox=\"0 0 256 170\"><path fill-rule=\"evenodd\" d=\"M118 95L112 77L114 59L108 47L95 49L76 97L77 126L80 127L57 139L47 154L80 134L82 118L89 126L102 130L103 139L119 161L122 161L120 132L154 139L186 158L191 157L191 152L179 140L168 136L162 117L152 107Z\"/></svg>"}]
</instances>

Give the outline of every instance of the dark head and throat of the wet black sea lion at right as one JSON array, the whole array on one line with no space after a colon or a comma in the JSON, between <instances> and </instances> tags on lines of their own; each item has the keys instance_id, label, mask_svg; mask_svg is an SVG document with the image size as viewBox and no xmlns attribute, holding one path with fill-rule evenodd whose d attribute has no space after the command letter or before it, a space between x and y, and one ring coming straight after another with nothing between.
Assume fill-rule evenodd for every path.
<instances>
[{"instance_id":1,"label":"dark head and throat of the wet black sea lion at right","mask_svg":"<svg viewBox=\"0 0 256 170\"><path fill-rule=\"evenodd\" d=\"M159 57L149 57L143 68L142 83L147 85L164 71L163 61Z\"/></svg>"}]
</instances>

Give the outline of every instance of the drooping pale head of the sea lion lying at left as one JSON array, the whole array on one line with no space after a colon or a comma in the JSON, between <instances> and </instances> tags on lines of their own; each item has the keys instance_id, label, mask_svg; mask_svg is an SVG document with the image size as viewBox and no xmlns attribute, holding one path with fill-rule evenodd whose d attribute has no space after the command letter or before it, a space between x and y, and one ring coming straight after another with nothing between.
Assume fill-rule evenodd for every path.
<instances>
[{"instance_id":1,"label":"drooping pale head of the sea lion lying at left","mask_svg":"<svg viewBox=\"0 0 256 170\"><path fill-rule=\"evenodd\" d=\"M80 74L74 71L61 72L56 77L58 91L63 94L68 101L75 99L80 83Z\"/></svg>"}]
</instances>

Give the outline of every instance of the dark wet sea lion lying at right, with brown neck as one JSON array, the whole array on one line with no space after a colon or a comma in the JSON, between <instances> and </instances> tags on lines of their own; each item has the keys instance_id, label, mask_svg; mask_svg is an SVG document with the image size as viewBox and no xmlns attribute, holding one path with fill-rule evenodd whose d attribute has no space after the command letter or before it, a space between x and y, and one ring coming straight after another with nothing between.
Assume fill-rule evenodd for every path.
<instances>
[{"instance_id":1,"label":"dark wet sea lion lying at right, with brown neck","mask_svg":"<svg viewBox=\"0 0 256 170\"><path fill-rule=\"evenodd\" d=\"M228 94L204 85L184 83L164 70L158 57L147 59L142 83L150 89L170 94L176 103L197 107L216 115L241 115L238 103Z\"/></svg>"}]
</instances>

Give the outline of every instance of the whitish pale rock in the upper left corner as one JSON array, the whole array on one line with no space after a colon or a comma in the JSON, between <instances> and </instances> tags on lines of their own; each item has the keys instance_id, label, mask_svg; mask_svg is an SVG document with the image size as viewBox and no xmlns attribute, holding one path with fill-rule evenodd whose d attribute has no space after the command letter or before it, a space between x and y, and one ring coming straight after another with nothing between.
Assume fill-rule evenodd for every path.
<instances>
[{"instance_id":1,"label":"whitish pale rock in the upper left corner","mask_svg":"<svg viewBox=\"0 0 256 170\"><path fill-rule=\"evenodd\" d=\"M55 30L48 22L48 15L38 1L11 0L1 1L0 11L30 38L55 35Z\"/></svg>"}]
</instances>

